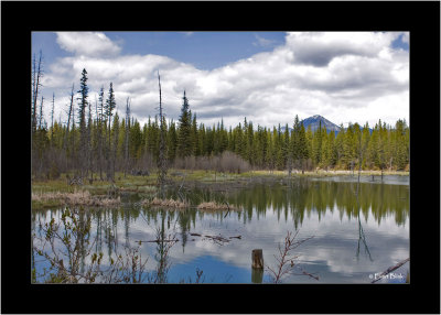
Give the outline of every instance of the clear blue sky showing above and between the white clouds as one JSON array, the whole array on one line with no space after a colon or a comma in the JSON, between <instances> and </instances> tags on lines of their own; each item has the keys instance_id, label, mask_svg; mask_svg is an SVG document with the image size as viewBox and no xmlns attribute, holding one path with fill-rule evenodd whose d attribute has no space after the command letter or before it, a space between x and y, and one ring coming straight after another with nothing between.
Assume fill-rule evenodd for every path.
<instances>
[{"instance_id":1,"label":"clear blue sky showing above and between the white clouds","mask_svg":"<svg viewBox=\"0 0 441 315\"><path fill-rule=\"evenodd\" d=\"M247 58L259 52L269 52L284 43L284 32L104 32L121 44L121 54L165 55L200 69L214 69ZM56 34L34 32L32 50L44 52L45 61L71 54L56 43Z\"/></svg>"}]
</instances>

